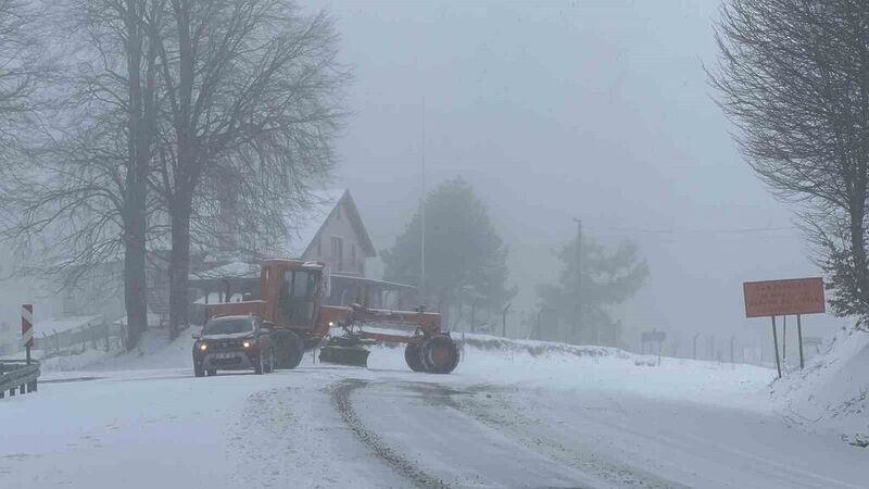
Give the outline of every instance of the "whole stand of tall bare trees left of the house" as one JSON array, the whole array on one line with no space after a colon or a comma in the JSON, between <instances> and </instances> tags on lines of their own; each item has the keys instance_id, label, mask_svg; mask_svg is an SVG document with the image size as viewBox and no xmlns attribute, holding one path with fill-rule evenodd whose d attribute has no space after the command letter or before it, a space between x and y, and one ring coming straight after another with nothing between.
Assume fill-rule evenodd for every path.
<instances>
[{"instance_id":1,"label":"whole stand of tall bare trees left of the house","mask_svg":"<svg viewBox=\"0 0 869 489\"><path fill-rule=\"evenodd\" d=\"M123 260L130 348L147 261L167 260L175 337L191 250L278 249L330 175L350 80L333 21L288 0L38 5L0 0L0 237L67 286Z\"/></svg>"}]
</instances>

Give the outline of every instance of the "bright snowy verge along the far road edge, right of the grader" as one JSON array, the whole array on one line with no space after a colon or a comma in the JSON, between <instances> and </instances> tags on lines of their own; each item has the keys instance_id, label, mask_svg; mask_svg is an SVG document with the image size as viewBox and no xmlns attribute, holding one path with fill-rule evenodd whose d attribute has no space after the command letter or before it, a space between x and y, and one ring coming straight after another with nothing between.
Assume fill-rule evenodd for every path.
<instances>
[{"instance_id":1,"label":"bright snowy verge along the far road edge, right of the grader","mask_svg":"<svg viewBox=\"0 0 869 489\"><path fill-rule=\"evenodd\" d=\"M475 343L480 342L468 341L454 375L438 380L628 392L765 413L771 409L767 387L776 373L769 368L669 358L655 366L657 358L618 349L496 340L503 343L496 349L477 348ZM582 350L592 353L582 354ZM375 369L407 368L402 351L391 348L375 348L368 365Z\"/></svg>"}]
</instances>

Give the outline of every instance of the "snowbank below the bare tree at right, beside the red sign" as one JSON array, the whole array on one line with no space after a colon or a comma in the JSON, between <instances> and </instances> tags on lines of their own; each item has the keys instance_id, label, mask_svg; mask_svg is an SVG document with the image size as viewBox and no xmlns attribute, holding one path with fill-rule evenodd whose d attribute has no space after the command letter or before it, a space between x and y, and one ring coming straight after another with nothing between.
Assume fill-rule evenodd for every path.
<instances>
[{"instance_id":1,"label":"snowbank below the bare tree at right, beside the red sign","mask_svg":"<svg viewBox=\"0 0 869 489\"><path fill-rule=\"evenodd\" d=\"M823 354L772 385L777 409L792 424L832 429L869 446L869 334L841 330Z\"/></svg>"}]
</instances>

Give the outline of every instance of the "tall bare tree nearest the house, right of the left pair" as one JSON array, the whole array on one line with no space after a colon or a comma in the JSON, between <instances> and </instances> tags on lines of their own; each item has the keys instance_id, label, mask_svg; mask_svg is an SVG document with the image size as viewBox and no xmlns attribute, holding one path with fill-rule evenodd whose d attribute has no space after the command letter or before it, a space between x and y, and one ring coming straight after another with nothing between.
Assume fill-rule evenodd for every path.
<instances>
[{"instance_id":1,"label":"tall bare tree nearest the house, right of the left pair","mask_svg":"<svg viewBox=\"0 0 869 489\"><path fill-rule=\"evenodd\" d=\"M188 323L197 210L235 193L256 236L286 236L281 214L333 165L348 75L324 13L286 0L171 0L169 10L173 29L152 33L165 89L154 188L171 220L175 336Z\"/></svg>"}]
</instances>

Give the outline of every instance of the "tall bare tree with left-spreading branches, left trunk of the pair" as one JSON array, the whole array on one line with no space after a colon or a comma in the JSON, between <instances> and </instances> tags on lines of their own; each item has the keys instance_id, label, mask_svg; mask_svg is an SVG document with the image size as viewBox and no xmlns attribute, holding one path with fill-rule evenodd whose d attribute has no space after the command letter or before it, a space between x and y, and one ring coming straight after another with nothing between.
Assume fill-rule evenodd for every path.
<instances>
[{"instance_id":1,"label":"tall bare tree with left-spreading branches, left trunk of the pair","mask_svg":"<svg viewBox=\"0 0 869 489\"><path fill-rule=\"evenodd\" d=\"M162 2L80 0L46 16L65 39L70 59L52 77L60 101L3 188L11 225L5 236L30 249L25 268L56 275L65 287L123 256L128 347L147 327L146 242L151 151L156 133L156 51L147 33ZM67 46L64 50L60 46Z\"/></svg>"}]
</instances>

